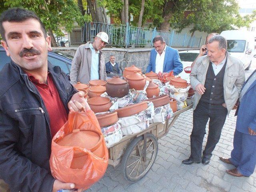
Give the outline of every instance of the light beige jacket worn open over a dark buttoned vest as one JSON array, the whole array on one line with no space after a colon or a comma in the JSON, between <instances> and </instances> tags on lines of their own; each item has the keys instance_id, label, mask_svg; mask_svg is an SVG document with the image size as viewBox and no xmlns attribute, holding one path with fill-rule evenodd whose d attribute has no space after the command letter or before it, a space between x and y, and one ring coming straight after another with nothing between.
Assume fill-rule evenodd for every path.
<instances>
[{"instance_id":1,"label":"light beige jacket worn open over a dark buttoned vest","mask_svg":"<svg viewBox=\"0 0 256 192\"><path fill-rule=\"evenodd\" d=\"M229 113L238 100L238 96L244 84L245 74L242 61L230 56L228 53L226 53L226 55L227 64L224 74L223 87L224 100ZM202 83L204 85L209 62L210 60L207 55L196 60L196 63L192 68L192 72L190 73L190 84L194 90L196 90L196 86L198 84ZM200 98L201 95L195 91L193 110L196 109Z\"/></svg>"}]
</instances>

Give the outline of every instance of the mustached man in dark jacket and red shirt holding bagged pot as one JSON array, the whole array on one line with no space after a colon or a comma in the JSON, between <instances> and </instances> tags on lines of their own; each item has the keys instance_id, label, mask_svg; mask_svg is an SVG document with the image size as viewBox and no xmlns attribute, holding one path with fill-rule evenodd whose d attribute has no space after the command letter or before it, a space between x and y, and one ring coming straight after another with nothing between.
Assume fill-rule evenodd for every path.
<instances>
[{"instance_id":1,"label":"mustached man in dark jacket and red shirt holding bagged pot","mask_svg":"<svg viewBox=\"0 0 256 192\"><path fill-rule=\"evenodd\" d=\"M47 61L51 39L34 12L3 12L0 34L11 58L0 72L0 191L9 191L4 182L15 192L75 188L52 177L49 159L52 137L69 110L90 109L84 94Z\"/></svg>"}]
</instances>

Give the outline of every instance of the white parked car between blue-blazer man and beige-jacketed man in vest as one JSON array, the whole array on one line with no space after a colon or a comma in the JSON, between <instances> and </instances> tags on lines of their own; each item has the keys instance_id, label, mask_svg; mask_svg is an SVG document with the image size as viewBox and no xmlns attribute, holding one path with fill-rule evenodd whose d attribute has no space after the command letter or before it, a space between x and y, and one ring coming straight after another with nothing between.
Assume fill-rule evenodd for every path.
<instances>
[{"instance_id":1,"label":"white parked car between blue-blazer man and beige-jacketed man in vest","mask_svg":"<svg viewBox=\"0 0 256 192\"><path fill-rule=\"evenodd\" d=\"M197 58L200 50L186 50L180 51L180 60L183 64L183 69L186 67L190 67L192 62ZM188 83L190 82L189 73L184 72L184 70L179 74L179 76L186 80Z\"/></svg>"}]
</instances>

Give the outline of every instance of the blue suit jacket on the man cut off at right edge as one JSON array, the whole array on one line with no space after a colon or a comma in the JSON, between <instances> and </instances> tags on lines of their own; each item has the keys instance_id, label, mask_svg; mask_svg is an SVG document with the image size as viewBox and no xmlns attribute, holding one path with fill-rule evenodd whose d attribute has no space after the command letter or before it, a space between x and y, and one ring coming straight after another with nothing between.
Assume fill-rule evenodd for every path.
<instances>
[{"instance_id":1,"label":"blue suit jacket on the man cut off at right edge","mask_svg":"<svg viewBox=\"0 0 256 192\"><path fill-rule=\"evenodd\" d=\"M256 72L256 70L254 72ZM248 81L248 79L246 80L246 82ZM244 84L246 84L246 82ZM239 104L239 108L237 112L237 120L236 120L236 130L238 130L239 132L249 134L248 127L256 131L255 96L256 96L256 81L254 81L252 85L248 88L248 90L245 92Z\"/></svg>"}]
</instances>

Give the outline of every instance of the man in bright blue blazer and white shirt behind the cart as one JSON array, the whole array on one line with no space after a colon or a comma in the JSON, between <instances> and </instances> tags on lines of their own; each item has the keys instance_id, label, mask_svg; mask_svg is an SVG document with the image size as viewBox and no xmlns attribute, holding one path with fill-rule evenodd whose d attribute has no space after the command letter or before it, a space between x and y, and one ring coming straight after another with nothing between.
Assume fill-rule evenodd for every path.
<instances>
[{"instance_id":1,"label":"man in bright blue blazer and white shirt behind the cart","mask_svg":"<svg viewBox=\"0 0 256 192\"><path fill-rule=\"evenodd\" d=\"M147 73L153 71L165 74L173 70L174 75L180 74L183 65L178 50L167 46L162 36L156 36L153 39L153 45L154 49L150 52Z\"/></svg>"}]
</instances>

